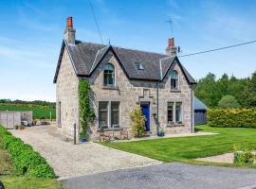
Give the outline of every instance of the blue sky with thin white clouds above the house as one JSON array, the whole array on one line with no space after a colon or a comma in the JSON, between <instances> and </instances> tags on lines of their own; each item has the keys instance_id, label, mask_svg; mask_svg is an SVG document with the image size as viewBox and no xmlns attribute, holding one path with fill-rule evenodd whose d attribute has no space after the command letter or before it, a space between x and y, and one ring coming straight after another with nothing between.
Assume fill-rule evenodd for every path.
<instances>
[{"instance_id":1,"label":"blue sky with thin white clouds above the house","mask_svg":"<svg viewBox=\"0 0 256 189\"><path fill-rule=\"evenodd\" d=\"M106 44L165 53L174 37L185 55L256 40L254 0L91 2ZM101 43L88 0L0 1L0 98L55 101L53 77L68 16L77 40ZM195 79L209 72L250 77L255 52L251 43L180 60Z\"/></svg>"}]
</instances>

